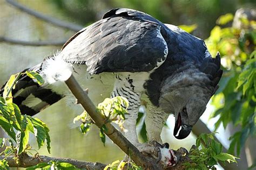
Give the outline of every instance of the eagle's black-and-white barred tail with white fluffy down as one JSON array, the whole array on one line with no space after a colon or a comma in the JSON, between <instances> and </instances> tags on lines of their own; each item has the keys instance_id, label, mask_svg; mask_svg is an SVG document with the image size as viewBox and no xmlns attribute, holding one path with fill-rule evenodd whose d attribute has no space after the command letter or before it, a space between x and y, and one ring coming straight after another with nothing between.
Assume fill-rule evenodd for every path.
<instances>
[{"instance_id":1,"label":"eagle's black-and-white barred tail with white fluffy down","mask_svg":"<svg viewBox=\"0 0 256 170\"><path fill-rule=\"evenodd\" d=\"M11 91L13 97L12 102L18 105L23 115L36 115L38 112L64 97L63 94L56 93L51 88L51 85L54 85L58 81L57 77L63 77L60 75L59 72L61 70L58 68L59 65L63 67L63 62L63 60L59 62L52 56L46 58L39 65L22 71L22 73L26 71L36 72L44 79L44 84L40 86L36 80L31 79L26 74L22 74L16 82L15 88ZM4 86L0 89L0 96L3 96Z\"/></svg>"}]
</instances>

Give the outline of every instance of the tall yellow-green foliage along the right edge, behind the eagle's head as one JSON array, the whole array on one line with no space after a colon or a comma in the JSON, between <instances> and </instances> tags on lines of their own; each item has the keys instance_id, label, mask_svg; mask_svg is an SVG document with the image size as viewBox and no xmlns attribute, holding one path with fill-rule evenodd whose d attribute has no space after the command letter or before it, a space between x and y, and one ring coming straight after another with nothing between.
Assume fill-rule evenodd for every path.
<instances>
[{"instance_id":1,"label":"tall yellow-green foliage along the right edge, behind the eagle's head","mask_svg":"<svg viewBox=\"0 0 256 170\"><path fill-rule=\"evenodd\" d=\"M220 87L212 99L217 108L212 117L219 116L215 124L217 129L221 123L226 128L228 123L239 126L240 131L231 137L230 153L244 146L248 136L255 136L255 105L256 105L256 24L241 18L242 28L221 26L232 21L233 16L221 16L206 40L211 54L220 52L221 65L224 69Z\"/></svg>"}]
</instances>

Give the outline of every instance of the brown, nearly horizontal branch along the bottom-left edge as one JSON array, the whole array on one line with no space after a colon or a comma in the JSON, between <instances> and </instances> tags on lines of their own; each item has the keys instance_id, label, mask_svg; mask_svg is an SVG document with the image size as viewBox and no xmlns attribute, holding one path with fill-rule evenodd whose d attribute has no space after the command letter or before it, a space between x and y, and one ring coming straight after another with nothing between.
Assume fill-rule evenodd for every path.
<instances>
[{"instance_id":1,"label":"brown, nearly horizontal branch along the bottom-left edge","mask_svg":"<svg viewBox=\"0 0 256 170\"><path fill-rule=\"evenodd\" d=\"M4 156L0 156L0 160L4 159ZM37 158L30 157L27 154L22 154L19 156L19 164L17 165L14 156L7 157L8 165L10 167L30 167L39 164L40 162L49 162L49 161L58 161L58 162L67 162L76 166L77 168L86 168L86 169L104 169L105 164L99 162L86 162L70 158L54 158L47 156L38 156Z\"/></svg>"}]
</instances>

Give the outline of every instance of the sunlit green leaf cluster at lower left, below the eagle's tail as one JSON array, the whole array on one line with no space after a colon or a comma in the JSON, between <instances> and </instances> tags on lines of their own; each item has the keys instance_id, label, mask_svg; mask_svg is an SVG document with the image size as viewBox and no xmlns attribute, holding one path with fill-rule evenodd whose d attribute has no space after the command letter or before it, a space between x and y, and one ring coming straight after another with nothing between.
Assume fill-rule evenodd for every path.
<instances>
[{"instance_id":1,"label":"sunlit green leaf cluster at lower left, below the eagle's tail","mask_svg":"<svg viewBox=\"0 0 256 170\"><path fill-rule=\"evenodd\" d=\"M0 126L8 134L10 139L0 138L1 147L5 146L3 151L5 159L0 160L0 167L8 168L6 157L18 155L22 152L31 150L29 146L29 133L36 137L38 148L45 143L50 153L50 136L48 126L38 118L22 115L18 106L12 103L11 90L15 88L15 83L23 73L11 75L9 81L5 84L3 97L0 97ZM35 77L36 81L42 82L42 77L37 73L26 72L25 74ZM1 153L1 154L3 154ZM0 155L1 155L0 154Z\"/></svg>"}]
</instances>

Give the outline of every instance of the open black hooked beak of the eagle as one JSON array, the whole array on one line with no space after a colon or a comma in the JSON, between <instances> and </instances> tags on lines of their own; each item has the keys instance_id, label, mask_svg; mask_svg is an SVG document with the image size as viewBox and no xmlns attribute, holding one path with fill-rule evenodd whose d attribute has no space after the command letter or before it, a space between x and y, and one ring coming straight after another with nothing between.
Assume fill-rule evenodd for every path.
<instances>
[{"instance_id":1,"label":"open black hooked beak of the eagle","mask_svg":"<svg viewBox=\"0 0 256 170\"><path fill-rule=\"evenodd\" d=\"M191 125L183 124L181 121L181 116L180 113L178 115L178 118L175 122L175 127L173 130L173 136L176 137L177 139L184 139L190 134L192 130ZM179 132L179 133L178 133Z\"/></svg>"}]
</instances>

